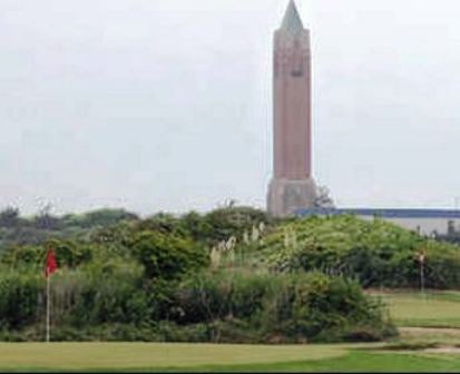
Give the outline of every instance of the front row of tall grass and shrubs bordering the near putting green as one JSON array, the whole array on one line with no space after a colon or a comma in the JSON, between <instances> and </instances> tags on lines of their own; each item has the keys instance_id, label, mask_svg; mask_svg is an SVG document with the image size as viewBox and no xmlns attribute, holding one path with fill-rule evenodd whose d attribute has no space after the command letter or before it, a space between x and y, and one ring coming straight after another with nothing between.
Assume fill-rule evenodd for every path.
<instances>
[{"instance_id":1,"label":"front row of tall grass and shrubs bordering the near putting green","mask_svg":"<svg viewBox=\"0 0 460 374\"><path fill-rule=\"evenodd\" d=\"M140 268L120 264L107 274L79 268L56 276L52 338L304 343L380 341L395 334L380 304L340 277L228 277L204 270L165 280L150 279ZM41 341L43 279L10 272L1 289L2 338Z\"/></svg>"}]
</instances>

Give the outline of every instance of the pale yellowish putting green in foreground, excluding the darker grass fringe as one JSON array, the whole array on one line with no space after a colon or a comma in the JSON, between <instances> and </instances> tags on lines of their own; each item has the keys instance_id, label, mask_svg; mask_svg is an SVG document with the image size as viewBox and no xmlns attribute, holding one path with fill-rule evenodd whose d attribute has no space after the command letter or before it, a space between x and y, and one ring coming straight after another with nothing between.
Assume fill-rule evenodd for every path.
<instances>
[{"instance_id":1,"label":"pale yellowish putting green in foreground, excluding the darker grass fringe","mask_svg":"<svg viewBox=\"0 0 460 374\"><path fill-rule=\"evenodd\" d=\"M272 365L335 358L342 346L251 346L155 343L18 343L0 344L0 368L21 370L195 370L204 366Z\"/></svg>"}]
</instances>

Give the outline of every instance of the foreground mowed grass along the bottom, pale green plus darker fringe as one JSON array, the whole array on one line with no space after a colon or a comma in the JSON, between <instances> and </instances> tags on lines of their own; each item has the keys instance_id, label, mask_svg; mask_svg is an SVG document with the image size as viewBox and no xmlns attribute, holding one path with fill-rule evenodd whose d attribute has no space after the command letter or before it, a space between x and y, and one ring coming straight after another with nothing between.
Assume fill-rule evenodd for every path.
<instances>
[{"instance_id":1,"label":"foreground mowed grass along the bottom, pale green plus darker fringe","mask_svg":"<svg viewBox=\"0 0 460 374\"><path fill-rule=\"evenodd\" d=\"M14 372L453 372L460 368L460 356L361 351L364 346L0 344L0 363L2 371Z\"/></svg>"}]
</instances>

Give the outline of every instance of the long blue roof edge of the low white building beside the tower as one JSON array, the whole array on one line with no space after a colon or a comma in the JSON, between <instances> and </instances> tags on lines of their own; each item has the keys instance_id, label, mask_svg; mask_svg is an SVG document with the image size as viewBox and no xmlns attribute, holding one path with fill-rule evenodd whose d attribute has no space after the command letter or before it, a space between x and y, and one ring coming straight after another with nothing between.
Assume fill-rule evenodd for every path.
<instances>
[{"instance_id":1,"label":"long blue roof edge of the low white building beside the tower","mask_svg":"<svg viewBox=\"0 0 460 374\"><path fill-rule=\"evenodd\" d=\"M336 215L355 215L355 216L374 216L381 218L458 218L460 210L449 209L372 209L372 208L350 208L350 209L297 209L295 216L336 216Z\"/></svg>"}]
</instances>

